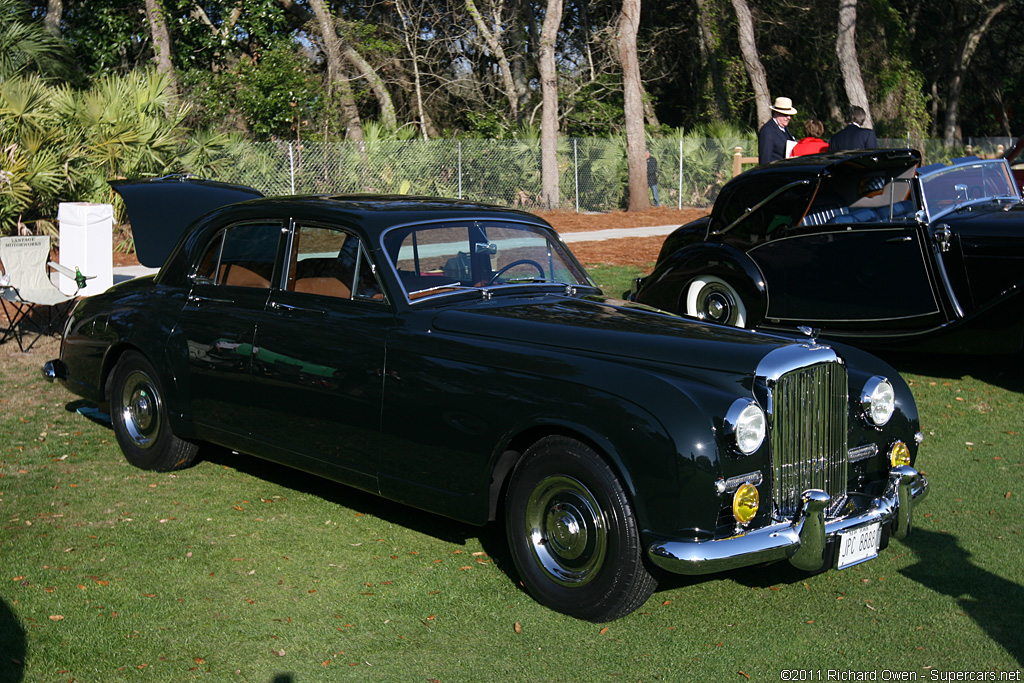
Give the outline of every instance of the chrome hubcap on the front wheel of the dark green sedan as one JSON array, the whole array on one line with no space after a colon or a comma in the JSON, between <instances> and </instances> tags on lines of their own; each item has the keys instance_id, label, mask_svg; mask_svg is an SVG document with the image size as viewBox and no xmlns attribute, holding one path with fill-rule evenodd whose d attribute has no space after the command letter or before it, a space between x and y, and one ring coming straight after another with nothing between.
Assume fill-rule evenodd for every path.
<instances>
[{"instance_id":1,"label":"chrome hubcap on the front wheel of the dark green sedan","mask_svg":"<svg viewBox=\"0 0 1024 683\"><path fill-rule=\"evenodd\" d=\"M534 559L563 586L582 586L598 573L607 552L604 514L580 481L552 476L526 502L525 531Z\"/></svg>"}]
</instances>

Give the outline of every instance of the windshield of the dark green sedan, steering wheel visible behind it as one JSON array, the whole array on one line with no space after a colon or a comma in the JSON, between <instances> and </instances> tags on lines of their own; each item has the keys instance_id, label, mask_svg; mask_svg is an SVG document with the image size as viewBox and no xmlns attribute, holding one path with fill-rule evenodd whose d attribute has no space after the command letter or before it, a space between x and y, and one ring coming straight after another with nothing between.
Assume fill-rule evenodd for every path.
<instances>
[{"instance_id":1,"label":"windshield of the dark green sedan, steering wheel visible behind it","mask_svg":"<svg viewBox=\"0 0 1024 683\"><path fill-rule=\"evenodd\" d=\"M384 249L410 301L509 285L593 287L554 234L537 225L415 225L385 234Z\"/></svg>"}]
</instances>

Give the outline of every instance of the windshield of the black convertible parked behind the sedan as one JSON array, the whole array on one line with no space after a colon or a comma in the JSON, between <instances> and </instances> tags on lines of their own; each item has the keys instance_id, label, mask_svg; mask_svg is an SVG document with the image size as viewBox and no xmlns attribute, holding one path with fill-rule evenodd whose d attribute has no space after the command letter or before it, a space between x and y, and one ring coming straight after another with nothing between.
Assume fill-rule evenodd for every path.
<instances>
[{"instance_id":1,"label":"windshield of the black convertible parked behind the sedan","mask_svg":"<svg viewBox=\"0 0 1024 683\"><path fill-rule=\"evenodd\" d=\"M999 159L962 163L921 176L928 215L990 199L1018 199L1006 162Z\"/></svg>"}]
</instances>

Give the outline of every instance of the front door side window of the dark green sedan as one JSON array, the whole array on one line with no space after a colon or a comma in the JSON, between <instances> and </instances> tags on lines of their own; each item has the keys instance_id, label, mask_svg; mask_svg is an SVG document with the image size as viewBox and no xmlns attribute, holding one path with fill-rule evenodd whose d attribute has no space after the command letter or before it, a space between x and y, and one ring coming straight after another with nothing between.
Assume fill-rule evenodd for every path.
<instances>
[{"instance_id":1,"label":"front door side window of the dark green sedan","mask_svg":"<svg viewBox=\"0 0 1024 683\"><path fill-rule=\"evenodd\" d=\"M292 243L288 290L339 299L382 299L358 239L333 227L299 225Z\"/></svg>"}]
</instances>

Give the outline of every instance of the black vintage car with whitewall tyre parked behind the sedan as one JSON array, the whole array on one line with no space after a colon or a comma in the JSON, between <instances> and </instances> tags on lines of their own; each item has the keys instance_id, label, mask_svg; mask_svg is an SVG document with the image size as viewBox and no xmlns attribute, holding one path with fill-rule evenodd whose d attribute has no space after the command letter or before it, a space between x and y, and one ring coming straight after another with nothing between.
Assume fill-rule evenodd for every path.
<instances>
[{"instance_id":1,"label":"black vintage car with whitewall tyre parked behind the sedan","mask_svg":"<svg viewBox=\"0 0 1024 683\"><path fill-rule=\"evenodd\" d=\"M1006 160L919 168L913 150L748 171L666 240L636 301L870 348L1019 352L1024 204Z\"/></svg>"}]
</instances>

